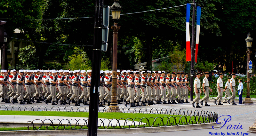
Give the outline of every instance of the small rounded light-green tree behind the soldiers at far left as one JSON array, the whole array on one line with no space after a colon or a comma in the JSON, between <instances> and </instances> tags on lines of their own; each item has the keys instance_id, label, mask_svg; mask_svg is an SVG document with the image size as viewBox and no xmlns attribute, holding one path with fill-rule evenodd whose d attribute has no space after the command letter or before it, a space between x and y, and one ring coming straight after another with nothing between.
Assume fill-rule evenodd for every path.
<instances>
[{"instance_id":1,"label":"small rounded light-green tree behind the soldiers at far left","mask_svg":"<svg viewBox=\"0 0 256 136\"><path fill-rule=\"evenodd\" d=\"M36 55L35 46L28 45L20 49L19 53L20 66L37 67L38 56Z\"/></svg>"}]
</instances>

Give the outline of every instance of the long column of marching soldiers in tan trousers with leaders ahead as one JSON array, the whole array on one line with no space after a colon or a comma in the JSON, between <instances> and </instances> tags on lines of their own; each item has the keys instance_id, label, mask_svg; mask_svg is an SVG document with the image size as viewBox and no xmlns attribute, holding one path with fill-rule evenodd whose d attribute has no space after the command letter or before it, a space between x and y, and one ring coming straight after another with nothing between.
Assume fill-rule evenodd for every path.
<instances>
[{"instance_id":1,"label":"long column of marching soldiers in tan trousers with leaders ahead","mask_svg":"<svg viewBox=\"0 0 256 136\"><path fill-rule=\"evenodd\" d=\"M1 70L0 75L0 98L5 103L20 103L32 104L52 103L52 105L70 105L80 106L81 103L89 105L90 87L92 70ZM203 92L205 97L200 101L200 94L202 93L200 77L201 73L196 73L194 81L194 92L196 98L191 104L195 108L201 108L199 103L204 106L209 100L209 91L212 89L209 86L209 73L204 73ZM188 91L191 91L188 81L188 73L184 72L165 72L165 71L131 71L131 70L117 70L117 88L116 96L117 103L127 107L140 107L155 104L177 104L190 103L188 102ZM217 79L218 96L213 101L214 104L221 104L223 91L226 92L223 102L233 105L235 103L235 77L228 79L228 82L223 86L223 74L219 74ZM8 92L9 88L9 92ZM224 89L223 89L224 88ZM112 71L100 71L100 85L99 85L99 106L110 106L111 91L112 91ZM231 91L231 94L230 92ZM19 101L17 100L18 98ZM12 99L12 100L10 100ZM154 102L155 101L155 102ZM196 103L196 106L195 106Z\"/></svg>"}]
</instances>

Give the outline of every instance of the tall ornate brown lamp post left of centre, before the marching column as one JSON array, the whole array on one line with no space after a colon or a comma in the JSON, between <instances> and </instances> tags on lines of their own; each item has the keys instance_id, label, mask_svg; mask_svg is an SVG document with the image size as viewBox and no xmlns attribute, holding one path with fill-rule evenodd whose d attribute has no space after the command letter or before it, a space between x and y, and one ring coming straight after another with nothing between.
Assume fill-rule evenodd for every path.
<instances>
[{"instance_id":1,"label":"tall ornate brown lamp post left of centre, before the marching column","mask_svg":"<svg viewBox=\"0 0 256 136\"><path fill-rule=\"evenodd\" d=\"M120 26L117 26L117 20L120 20L120 13L122 6L118 3L118 0L114 0L114 4L110 7L112 13L112 20L114 20L114 26L111 26L113 30L113 67L112 67L112 94L111 103L108 108L109 112L121 112L116 101L116 82L117 82L117 34Z\"/></svg>"}]
</instances>

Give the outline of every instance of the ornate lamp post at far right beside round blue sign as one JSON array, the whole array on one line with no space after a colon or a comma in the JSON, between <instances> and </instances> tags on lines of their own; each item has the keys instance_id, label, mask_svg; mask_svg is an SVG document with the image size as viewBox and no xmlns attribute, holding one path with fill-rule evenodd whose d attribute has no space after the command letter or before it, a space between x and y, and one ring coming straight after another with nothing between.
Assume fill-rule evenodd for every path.
<instances>
[{"instance_id":1,"label":"ornate lamp post at far right beside round blue sign","mask_svg":"<svg viewBox=\"0 0 256 136\"><path fill-rule=\"evenodd\" d=\"M243 101L243 104L253 104L251 97L250 97L250 73L249 73L249 61L250 61L250 55L251 51L250 48L252 47L252 38L250 33L248 34L246 41L246 47L247 47L247 87L246 87L246 98Z\"/></svg>"}]
</instances>

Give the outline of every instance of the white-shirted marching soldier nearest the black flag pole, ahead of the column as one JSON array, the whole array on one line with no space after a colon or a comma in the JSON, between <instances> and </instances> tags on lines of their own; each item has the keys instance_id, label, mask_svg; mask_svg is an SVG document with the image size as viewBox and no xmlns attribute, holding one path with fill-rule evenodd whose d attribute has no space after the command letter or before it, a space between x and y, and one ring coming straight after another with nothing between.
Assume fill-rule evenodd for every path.
<instances>
[{"instance_id":1,"label":"white-shirted marching soldier nearest the black flag pole, ahead of the column","mask_svg":"<svg viewBox=\"0 0 256 136\"><path fill-rule=\"evenodd\" d=\"M202 108L201 106L199 106L199 101L200 101L200 93L201 93L201 81L199 80L199 78L201 77L200 73L196 73L196 79L194 81L194 92L196 94L196 98L194 99L193 103L191 104L194 108L195 108L195 102L196 102L196 108Z\"/></svg>"}]
</instances>

